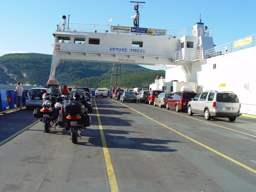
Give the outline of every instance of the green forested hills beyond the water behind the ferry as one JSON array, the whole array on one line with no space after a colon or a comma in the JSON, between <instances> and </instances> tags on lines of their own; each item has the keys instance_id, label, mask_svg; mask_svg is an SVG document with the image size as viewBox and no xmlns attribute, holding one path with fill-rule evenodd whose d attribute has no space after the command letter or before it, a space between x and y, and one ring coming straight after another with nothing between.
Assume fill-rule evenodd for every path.
<instances>
[{"instance_id":1,"label":"green forested hills beyond the water behind the ferry","mask_svg":"<svg viewBox=\"0 0 256 192\"><path fill-rule=\"evenodd\" d=\"M23 85L45 85L50 76L51 62L52 55L39 53L3 55L0 57L0 83L16 84L20 81ZM109 87L112 68L112 63L64 61L56 68L55 79L60 85ZM134 64L121 64L121 73L122 83L127 87L150 84L155 76L165 74L162 70L155 71Z\"/></svg>"}]
</instances>

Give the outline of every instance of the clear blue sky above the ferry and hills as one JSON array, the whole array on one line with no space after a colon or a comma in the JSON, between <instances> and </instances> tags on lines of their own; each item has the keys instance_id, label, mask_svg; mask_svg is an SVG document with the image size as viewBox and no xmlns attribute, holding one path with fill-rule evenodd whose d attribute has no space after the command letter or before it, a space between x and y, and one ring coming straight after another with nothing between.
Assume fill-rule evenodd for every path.
<instances>
[{"instance_id":1,"label":"clear blue sky above the ferry and hills","mask_svg":"<svg viewBox=\"0 0 256 192\"><path fill-rule=\"evenodd\" d=\"M143 0L140 27L182 30L201 22L213 29L213 41L219 46L256 34L255 0ZM69 23L133 26L135 3L130 0L0 0L0 56L7 53L53 52L52 33L62 16ZM148 67L165 69L165 67Z\"/></svg>"}]
</instances>

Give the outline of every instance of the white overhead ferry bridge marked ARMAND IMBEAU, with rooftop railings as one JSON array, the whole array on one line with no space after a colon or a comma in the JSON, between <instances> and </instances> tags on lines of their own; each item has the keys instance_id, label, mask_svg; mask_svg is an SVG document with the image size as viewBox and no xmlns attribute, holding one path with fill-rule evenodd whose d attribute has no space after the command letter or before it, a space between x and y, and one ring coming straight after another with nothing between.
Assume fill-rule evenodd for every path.
<instances>
[{"instance_id":1,"label":"white overhead ferry bridge marked ARMAND IMBEAU, with rooftop railings","mask_svg":"<svg viewBox=\"0 0 256 192\"><path fill-rule=\"evenodd\" d=\"M111 32L109 27L119 30ZM193 28L181 31L162 30L166 31L164 35L154 35L149 28L148 34L128 33L132 28L70 23L66 27L59 23L53 33L49 79L55 79L55 69L62 61L182 66L185 74L191 74L194 62L215 56L214 51L206 52L213 50L214 43L212 29L204 23L195 23Z\"/></svg>"}]
</instances>

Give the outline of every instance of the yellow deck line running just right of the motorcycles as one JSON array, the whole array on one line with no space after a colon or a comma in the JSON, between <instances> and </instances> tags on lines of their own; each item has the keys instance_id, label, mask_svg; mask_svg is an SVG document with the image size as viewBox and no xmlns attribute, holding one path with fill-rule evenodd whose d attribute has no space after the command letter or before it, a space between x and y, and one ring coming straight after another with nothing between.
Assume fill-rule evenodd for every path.
<instances>
[{"instance_id":1,"label":"yellow deck line running just right of the motorcycles","mask_svg":"<svg viewBox=\"0 0 256 192\"><path fill-rule=\"evenodd\" d=\"M95 105L95 109L96 109L96 113L97 113L97 118L98 118L98 123L99 123L99 129L100 129L100 133L101 133L101 141L102 141L102 148L103 148L103 153L104 153L104 158L105 158L105 165L106 165L106 169L107 169L107 174L108 174L108 181L110 184L110 191L112 192L118 192L118 186L116 183L116 176L115 176L115 172L112 166L112 162L111 162L111 158L108 152L108 147L107 147L107 143L106 143L106 139L103 133L103 128L101 125L101 119L100 119L100 115L98 112L98 108L97 108L97 104L94 100L94 105Z\"/></svg>"}]
</instances>

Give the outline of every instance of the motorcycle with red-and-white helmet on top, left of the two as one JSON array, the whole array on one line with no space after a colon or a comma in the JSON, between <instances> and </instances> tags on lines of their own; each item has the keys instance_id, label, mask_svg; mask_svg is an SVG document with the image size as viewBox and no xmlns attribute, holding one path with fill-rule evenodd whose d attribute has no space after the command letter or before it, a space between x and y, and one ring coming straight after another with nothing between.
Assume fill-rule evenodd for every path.
<instances>
[{"instance_id":1,"label":"motorcycle with red-and-white helmet on top, left of the two","mask_svg":"<svg viewBox=\"0 0 256 192\"><path fill-rule=\"evenodd\" d=\"M34 117L40 118L44 123L44 131L50 133L52 128L58 126L58 117L62 112L62 104L57 101L62 101L61 97L51 95L49 93L43 94L42 108L34 109Z\"/></svg>"}]
</instances>

